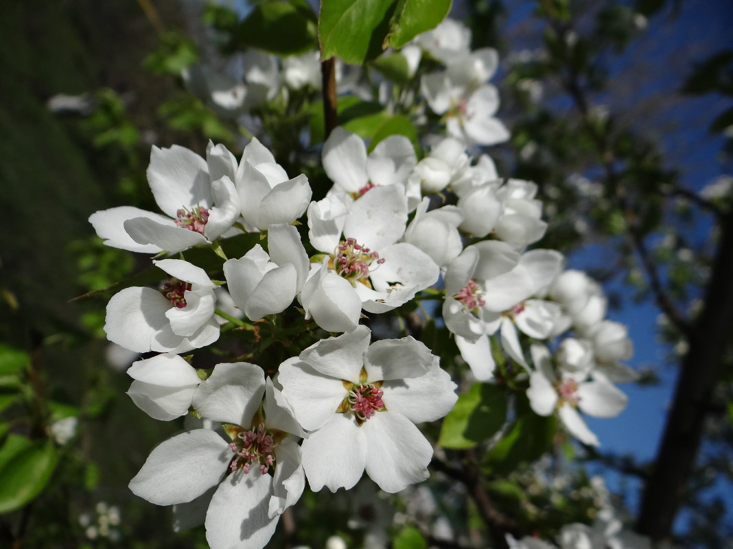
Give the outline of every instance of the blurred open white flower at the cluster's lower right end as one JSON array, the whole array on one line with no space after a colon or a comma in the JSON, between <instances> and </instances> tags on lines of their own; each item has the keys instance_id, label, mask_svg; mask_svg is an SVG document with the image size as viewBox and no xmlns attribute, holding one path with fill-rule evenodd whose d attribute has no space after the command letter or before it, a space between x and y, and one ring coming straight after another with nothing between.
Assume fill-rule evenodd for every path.
<instances>
[{"instance_id":1,"label":"blurred open white flower at the cluster's lower right end","mask_svg":"<svg viewBox=\"0 0 733 549\"><path fill-rule=\"evenodd\" d=\"M584 370L570 372L560 367L556 373L547 347L534 343L531 355L537 368L529 375L527 397L531 408L540 416L557 411L572 436L584 444L600 446L578 410L594 417L616 417L626 408L627 396L603 378L589 379L590 362Z\"/></svg>"}]
</instances>

